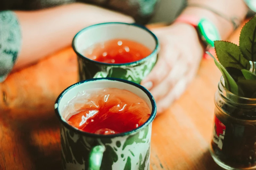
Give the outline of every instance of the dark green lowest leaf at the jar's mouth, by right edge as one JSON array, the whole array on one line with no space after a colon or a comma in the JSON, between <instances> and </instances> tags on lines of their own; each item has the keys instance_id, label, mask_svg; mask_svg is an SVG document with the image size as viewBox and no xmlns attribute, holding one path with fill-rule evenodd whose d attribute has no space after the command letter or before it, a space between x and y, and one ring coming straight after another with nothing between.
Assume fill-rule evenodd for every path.
<instances>
[{"instance_id":1,"label":"dark green lowest leaf at the jar's mouth, by right edge","mask_svg":"<svg viewBox=\"0 0 256 170\"><path fill-rule=\"evenodd\" d=\"M244 97L251 98L256 92L256 80L238 80L237 85L243 90Z\"/></svg>"}]
</instances>

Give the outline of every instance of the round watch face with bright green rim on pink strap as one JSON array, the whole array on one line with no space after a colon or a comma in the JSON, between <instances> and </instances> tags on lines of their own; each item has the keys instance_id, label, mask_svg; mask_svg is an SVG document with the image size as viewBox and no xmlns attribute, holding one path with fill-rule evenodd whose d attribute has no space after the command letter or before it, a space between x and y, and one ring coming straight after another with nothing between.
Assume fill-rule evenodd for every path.
<instances>
[{"instance_id":1,"label":"round watch face with bright green rim on pink strap","mask_svg":"<svg viewBox=\"0 0 256 170\"><path fill-rule=\"evenodd\" d=\"M209 20L201 19L198 23L197 29L202 40L211 47L214 47L214 41L220 40L217 28Z\"/></svg>"}]
</instances>

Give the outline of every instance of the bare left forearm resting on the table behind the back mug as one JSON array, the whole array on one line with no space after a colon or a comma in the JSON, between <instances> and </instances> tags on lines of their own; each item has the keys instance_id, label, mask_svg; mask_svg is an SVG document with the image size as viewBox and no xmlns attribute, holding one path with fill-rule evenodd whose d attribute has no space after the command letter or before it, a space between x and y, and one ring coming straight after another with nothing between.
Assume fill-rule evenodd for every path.
<instances>
[{"instance_id":1,"label":"bare left forearm resting on the table behind the back mug","mask_svg":"<svg viewBox=\"0 0 256 170\"><path fill-rule=\"evenodd\" d=\"M87 4L69 4L38 11L15 11L22 47L14 69L71 45L82 28L100 22L133 22L131 17Z\"/></svg>"}]
</instances>

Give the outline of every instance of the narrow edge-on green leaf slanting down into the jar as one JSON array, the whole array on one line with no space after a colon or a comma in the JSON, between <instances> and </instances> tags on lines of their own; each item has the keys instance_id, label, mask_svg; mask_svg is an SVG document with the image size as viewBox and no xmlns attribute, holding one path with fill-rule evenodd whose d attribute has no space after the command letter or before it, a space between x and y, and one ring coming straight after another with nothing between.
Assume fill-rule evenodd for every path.
<instances>
[{"instance_id":1,"label":"narrow edge-on green leaf slanting down into the jar","mask_svg":"<svg viewBox=\"0 0 256 170\"><path fill-rule=\"evenodd\" d=\"M221 71L221 73L224 77L224 80L225 80L226 89L228 89L230 92L238 95L238 86L237 86L235 80L230 76L228 71L213 57L213 55L210 52L207 51L206 53L214 59L214 63Z\"/></svg>"}]
</instances>

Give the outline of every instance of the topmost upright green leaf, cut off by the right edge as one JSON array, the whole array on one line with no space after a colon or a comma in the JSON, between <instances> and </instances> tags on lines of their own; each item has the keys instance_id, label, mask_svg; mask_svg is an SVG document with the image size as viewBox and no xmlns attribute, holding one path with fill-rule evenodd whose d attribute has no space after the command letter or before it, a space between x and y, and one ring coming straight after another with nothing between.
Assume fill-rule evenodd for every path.
<instances>
[{"instance_id":1,"label":"topmost upright green leaf, cut off by the right edge","mask_svg":"<svg viewBox=\"0 0 256 170\"><path fill-rule=\"evenodd\" d=\"M239 38L239 48L247 60L256 61L256 17L253 17L243 27Z\"/></svg>"}]
</instances>

